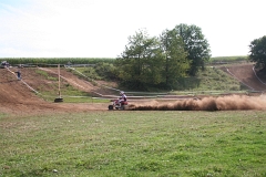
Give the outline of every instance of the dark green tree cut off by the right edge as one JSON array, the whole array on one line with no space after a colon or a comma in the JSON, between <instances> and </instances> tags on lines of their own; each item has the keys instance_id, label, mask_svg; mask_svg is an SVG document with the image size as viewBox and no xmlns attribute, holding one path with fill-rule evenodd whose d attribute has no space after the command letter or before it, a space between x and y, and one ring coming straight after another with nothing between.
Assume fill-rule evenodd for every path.
<instances>
[{"instance_id":1,"label":"dark green tree cut off by the right edge","mask_svg":"<svg viewBox=\"0 0 266 177\"><path fill-rule=\"evenodd\" d=\"M249 60L256 62L256 66L260 66L266 72L266 35L255 39L248 46L250 49Z\"/></svg>"}]
</instances>

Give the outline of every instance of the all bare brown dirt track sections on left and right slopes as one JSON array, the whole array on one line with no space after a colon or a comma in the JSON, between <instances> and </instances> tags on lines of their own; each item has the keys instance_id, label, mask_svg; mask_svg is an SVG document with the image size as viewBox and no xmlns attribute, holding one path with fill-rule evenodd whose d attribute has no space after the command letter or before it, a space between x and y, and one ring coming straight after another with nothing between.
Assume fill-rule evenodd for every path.
<instances>
[{"instance_id":1,"label":"all bare brown dirt track sections on left and right slopes","mask_svg":"<svg viewBox=\"0 0 266 177\"><path fill-rule=\"evenodd\" d=\"M252 64L235 65L228 67L229 72L236 76L239 81L250 86L255 91L265 91L266 85L262 84L257 80L253 72ZM10 69L17 71L17 69ZM57 72L55 69L53 69ZM41 79L38 73L31 69L21 69L22 81L28 83L31 87L37 88L43 85L47 90L54 90L50 86L48 80ZM76 88L86 92L100 92L93 85L88 82L78 79L65 70L62 70L61 74L68 79L69 84ZM55 74L54 74L55 75ZM106 111L108 104L69 104L69 103L48 103L41 100L33 91L27 85L18 81L16 75L9 72L7 69L0 70L0 112L16 114L16 115L29 115L29 114L44 114L55 112L90 112L90 111ZM57 92L57 90L54 91ZM195 102L196 103L196 102ZM145 108L143 108L145 110Z\"/></svg>"}]
</instances>

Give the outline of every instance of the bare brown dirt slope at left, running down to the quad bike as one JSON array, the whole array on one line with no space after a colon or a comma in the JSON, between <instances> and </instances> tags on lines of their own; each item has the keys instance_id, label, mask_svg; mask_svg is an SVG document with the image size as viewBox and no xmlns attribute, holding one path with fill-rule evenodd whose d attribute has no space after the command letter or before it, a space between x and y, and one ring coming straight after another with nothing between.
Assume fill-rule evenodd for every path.
<instances>
[{"instance_id":1,"label":"bare brown dirt slope at left, running down to the quad bike","mask_svg":"<svg viewBox=\"0 0 266 177\"><path fill-rule=\"evenodd\" d=\"M14 114L14 115L38 115L50 114L60 112L86 112L86 111L104 111L108 108L105 104L71 104L71 103L50 103L40 98L32 90L30 90L24 83L32 88L45 83L49 87L50 81L39 80L39 75L31 69L21 69L22 80L19 81L14 73L18 69L0 69L0 112ZM39 76L39 77L38 77ZM69 80L73 84L74 81L79 82L79 79L73 74L68 75ZM23 83L24 82L24 83ZM79 87L79 86L78 86ZM86 84L85 91L93 91L94 87L90 87Z\"/></svg>"}]
</instances>

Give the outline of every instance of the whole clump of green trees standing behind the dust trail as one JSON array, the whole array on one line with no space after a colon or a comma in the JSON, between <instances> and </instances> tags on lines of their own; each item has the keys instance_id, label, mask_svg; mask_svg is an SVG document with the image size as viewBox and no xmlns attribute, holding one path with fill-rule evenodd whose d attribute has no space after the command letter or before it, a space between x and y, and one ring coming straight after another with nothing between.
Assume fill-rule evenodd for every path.
<instances>
[{"instance_id":1,"label":"whole clump of green trees standing behind the dust trail","mask_svg":"<svg viewBox=\"0 0 266 177\"><path fill-rule=\"evenodd\" d=\"M116 59L116 76L131 88L174 88L181 79L204 70L209 58L208 41L194 24L178 24L158 37L139 30Z\"/></svg>"}]
</instances>

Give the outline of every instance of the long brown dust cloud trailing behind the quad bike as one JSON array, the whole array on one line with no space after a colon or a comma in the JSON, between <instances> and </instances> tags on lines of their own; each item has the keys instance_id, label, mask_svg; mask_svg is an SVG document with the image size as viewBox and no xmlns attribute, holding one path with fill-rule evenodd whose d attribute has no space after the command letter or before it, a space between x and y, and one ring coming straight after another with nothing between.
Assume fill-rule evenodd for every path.
<instances>
[{"instance_id":1,"label":"long brown dust cloud trailing behind the quad bike","mask_svg":"<svg viewBox=\"0 0 266 177\"><path fill-rule=\"evenodd\" d=\"M234 111L234 110L266 110L266 96L229 95L187 98L178 101L131 104L131 111Z\"/></svg>"}]
</instances>

